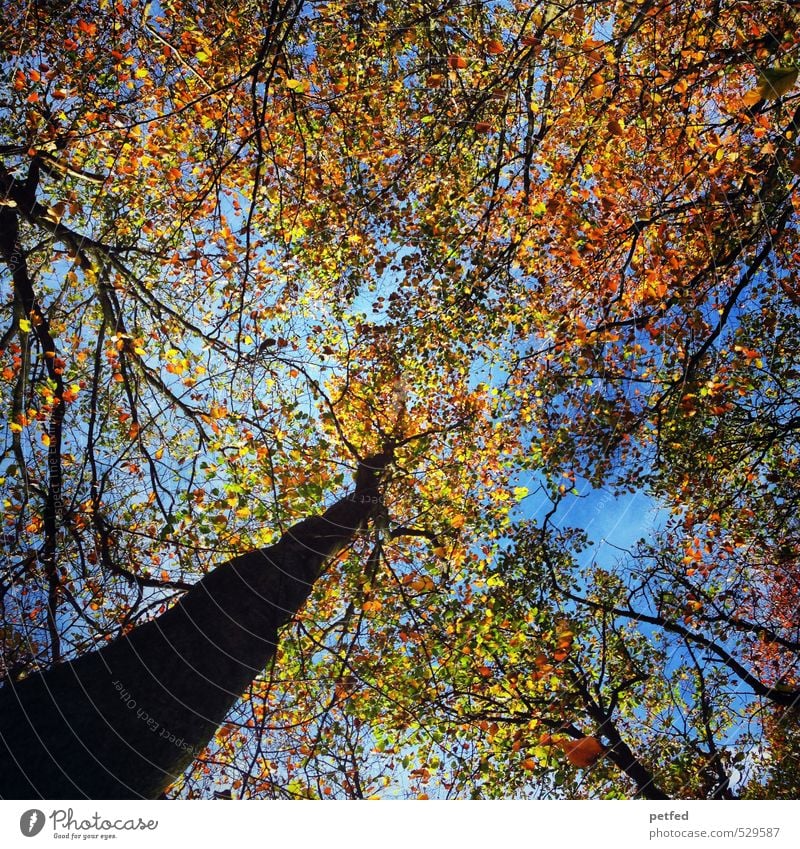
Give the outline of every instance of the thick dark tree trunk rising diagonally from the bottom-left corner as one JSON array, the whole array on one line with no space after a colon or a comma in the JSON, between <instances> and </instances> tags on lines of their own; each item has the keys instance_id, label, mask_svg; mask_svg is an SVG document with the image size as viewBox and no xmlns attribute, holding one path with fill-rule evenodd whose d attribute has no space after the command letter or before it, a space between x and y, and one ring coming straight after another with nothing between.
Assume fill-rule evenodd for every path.
<instances>
[{"instance_id":1,"label":"thick dark tree trunk rising diagonally from the bottom-left corner","mask_svg":"<svg viewBox=\"0 0 800 849\"><path fill-rule=\"evenodd\" d=\"M386 455L355 493L268 548L218 566L162 616L0 690L0 798L156 798L275 653L325 562L378 502Z\"/></svg>"}]
</instances>

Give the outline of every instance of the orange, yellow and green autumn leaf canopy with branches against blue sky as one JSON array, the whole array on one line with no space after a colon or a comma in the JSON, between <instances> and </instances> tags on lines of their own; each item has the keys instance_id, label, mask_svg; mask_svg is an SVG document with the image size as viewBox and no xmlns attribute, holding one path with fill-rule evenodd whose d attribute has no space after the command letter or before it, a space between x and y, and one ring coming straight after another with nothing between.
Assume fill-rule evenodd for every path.
<instances>
[{"instance_id":1,"label":"orange, yellow and green autumn leaf canopy with branches against blue sky","mask_svg":"<svg viewBox=\"0 0 800 849\"><path fill-rule=\"evenodd\" d=\"M797 9L5 6L4 678L391 450L169 796L797 796Z\"/></svg>"}]
</instances>

